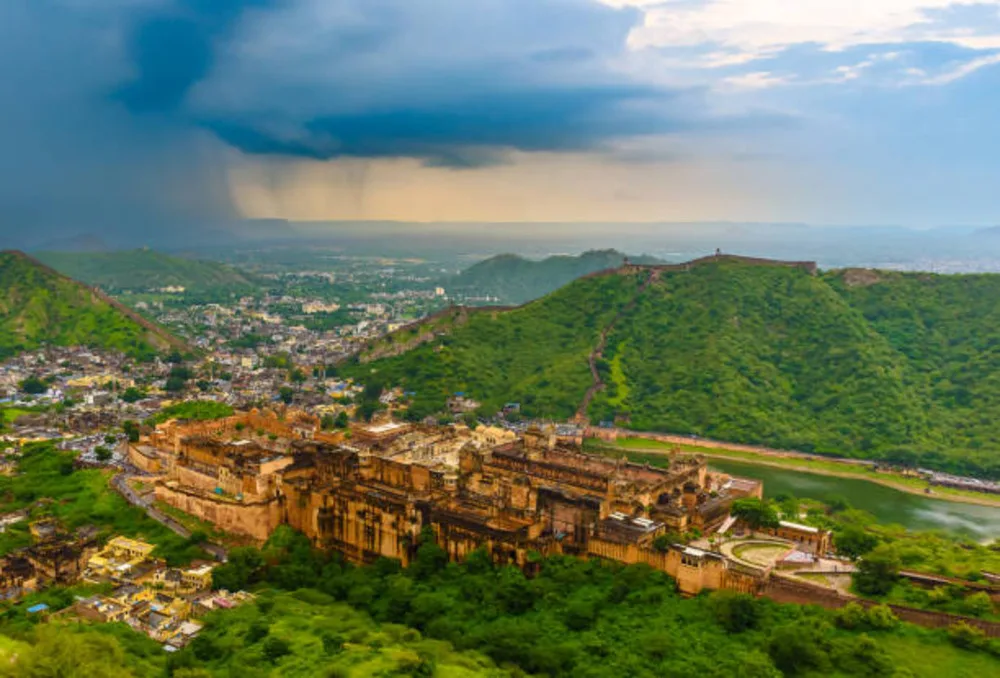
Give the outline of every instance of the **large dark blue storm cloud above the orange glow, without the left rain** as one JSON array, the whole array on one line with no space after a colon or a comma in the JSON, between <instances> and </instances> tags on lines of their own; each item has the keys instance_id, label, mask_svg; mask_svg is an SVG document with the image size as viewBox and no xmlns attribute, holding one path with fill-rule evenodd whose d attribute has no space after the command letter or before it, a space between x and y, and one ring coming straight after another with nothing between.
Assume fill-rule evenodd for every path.
<instances>
[{"instance_id":1,"label":"large dark blue storm cloud above the orange glow, without the left rain","mask_svg":"<svg viewBox=\"0 0 1000 678\"><path fill-rule=\"evenodd\" d=\"M118 96L255 155L594 150L691 124L610 65L638 18L595 0L176 0L136 21Z\"/></svg>"}]
</instances>

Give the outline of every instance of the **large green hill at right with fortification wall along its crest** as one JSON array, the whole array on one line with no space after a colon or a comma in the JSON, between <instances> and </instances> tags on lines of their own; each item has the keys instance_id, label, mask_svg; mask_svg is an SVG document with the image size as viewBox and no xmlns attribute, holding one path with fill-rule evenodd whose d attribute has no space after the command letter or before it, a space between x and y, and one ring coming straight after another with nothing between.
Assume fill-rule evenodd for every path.
<instances>
[{"instance_id":1,"label":"large green hill at right with fortification wall along its crest","mask_svg":"<svg viewBox=\"0 0 1000 678\"><path fill-rule=\"evenodd\" d=\"M998 293L1000 276L734 257L630 267L408 328L346 370L416 392L418 413L465 392L490 412L1000 477Z\"/></svg>"}]
</instances>

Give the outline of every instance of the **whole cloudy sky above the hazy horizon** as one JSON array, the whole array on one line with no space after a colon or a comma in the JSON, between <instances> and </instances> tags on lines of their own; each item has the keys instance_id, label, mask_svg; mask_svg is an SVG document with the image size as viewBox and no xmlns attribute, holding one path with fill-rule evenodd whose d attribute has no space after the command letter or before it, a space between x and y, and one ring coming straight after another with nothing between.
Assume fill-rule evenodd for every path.
<instances>
[{"instance_id":1,"label":"whole cloudy sky above the hazy horizon","mask_svg":"<svg viewBox=\"0 0 1000 678\"><path fill-rule=\"evenodd\" d=\"M1000 0L4 0L0 240L995 225L998 85Z\"/></svg>"}]
</instances>

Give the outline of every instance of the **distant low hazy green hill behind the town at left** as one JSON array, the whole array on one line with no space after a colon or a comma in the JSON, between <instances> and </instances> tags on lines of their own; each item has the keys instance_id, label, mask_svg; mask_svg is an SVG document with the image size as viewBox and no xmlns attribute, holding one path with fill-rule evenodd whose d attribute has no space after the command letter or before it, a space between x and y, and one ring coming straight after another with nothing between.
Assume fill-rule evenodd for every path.
<instances>
[{"instance_id":1,"label":"distant low hazy green hill behind the town at left","mask_svg":"<svg viewBox=\"0 0 1000 678\"><path fill-rule=\"evenodd\" d=\"M179 286L195 293L245 293L258 286L252 276L232 266L174 257L149 249L40 252L37 256L71 278L110 292L144 292Z\"/></svg>"}]
</instances>

